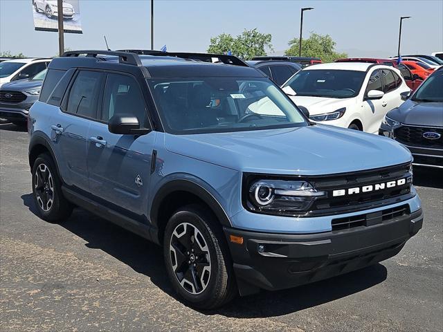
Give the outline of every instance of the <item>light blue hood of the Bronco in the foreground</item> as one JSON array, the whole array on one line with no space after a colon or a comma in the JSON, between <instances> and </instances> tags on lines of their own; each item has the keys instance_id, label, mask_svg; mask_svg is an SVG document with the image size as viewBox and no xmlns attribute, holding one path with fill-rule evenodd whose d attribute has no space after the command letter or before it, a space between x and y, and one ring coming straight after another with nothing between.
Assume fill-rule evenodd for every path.
<instances>
[{"instance_id":1,"label":"light blue hood of the Bronco in the foreground","mask_svg":"<svg viewBox=\"0 0 443 332\"><path fill-rule=\"evenodd\" d=\"M412 160L395 140L326 125L165 134L171 152L241 172L320 175L374 169Z\"/></svg>"}]
</instances>

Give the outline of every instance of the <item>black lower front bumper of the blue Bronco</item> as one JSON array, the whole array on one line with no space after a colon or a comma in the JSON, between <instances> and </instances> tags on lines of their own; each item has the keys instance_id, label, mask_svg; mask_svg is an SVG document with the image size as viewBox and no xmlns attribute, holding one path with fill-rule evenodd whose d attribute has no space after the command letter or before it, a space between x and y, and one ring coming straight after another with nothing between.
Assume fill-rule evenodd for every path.
<instances>
[{"instance_id":1,"label":"black lower front bumper of the blue Bronco","mask_svg":"<svg viewBox=\"0 0 443 332\"><path fill-rule=\"evenodd\" d=\"M364 212L363 212L364 213ZM380 218L381 219L381 218ZM392 219L316 234L274 234L224 228L241 295L327 279L388 259L422 228L420 208ZM242 237L233 243L230 235Z\"/></svg>"}]
</instances>

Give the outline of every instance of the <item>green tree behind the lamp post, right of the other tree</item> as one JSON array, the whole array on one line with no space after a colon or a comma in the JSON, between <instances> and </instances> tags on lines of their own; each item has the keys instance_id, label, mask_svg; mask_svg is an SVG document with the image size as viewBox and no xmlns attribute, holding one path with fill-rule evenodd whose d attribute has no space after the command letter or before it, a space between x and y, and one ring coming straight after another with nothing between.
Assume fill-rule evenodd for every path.
<instances>
[{"instance_id":1,"label":"green tree behind the lamp post, right of the other tree","mask_svg":"<svg viewBox=\"0 0 443 332\"><path fill-rule=\"evenodd\" d=\"M298 56L298 38L289 41L289 48L284 55ZM323 62L334 62L341 57L347 57L346 53L335 51L336 42L329 35L318 35L311 32L308 39L302 39L302 57L320 57Z\"/></svg>"}]
</instances>

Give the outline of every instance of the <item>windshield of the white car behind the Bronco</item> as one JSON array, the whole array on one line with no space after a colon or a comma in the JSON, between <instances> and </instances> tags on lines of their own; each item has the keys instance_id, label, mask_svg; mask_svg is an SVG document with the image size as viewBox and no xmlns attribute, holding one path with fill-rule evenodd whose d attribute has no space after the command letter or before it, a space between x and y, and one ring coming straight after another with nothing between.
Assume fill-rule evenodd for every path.
<instances>
[{"instance_id":1,"label":"windshield of the white car behind the Bronco","mask_svg":"<svg viewBox=\"0 0 443 332\"><path fill-rule=\"evenodd\" d=\"M284 86L297 95L325 98L351 98L359 94L364 71L312 69L299 71Z\"/></svg>"}]
</instances>

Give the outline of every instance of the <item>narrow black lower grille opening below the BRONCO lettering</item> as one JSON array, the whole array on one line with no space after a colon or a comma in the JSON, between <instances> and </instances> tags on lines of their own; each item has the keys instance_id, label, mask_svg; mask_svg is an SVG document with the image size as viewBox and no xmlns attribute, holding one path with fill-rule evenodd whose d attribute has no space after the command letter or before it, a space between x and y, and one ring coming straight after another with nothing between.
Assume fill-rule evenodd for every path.
<instances>
[{"instance_id":1,"label":"narrow black lower grille opening below the BRONCO lettering","mask_svg":"<svg viewBox=\"0 0 443 332\"><path fill-rule=\"evenodd\" d=\"M369 227L386 221L391 221L392 219L406 214L409 214L409 206L407 204L373 213L332 219L332 230L347 230L359 226Z\"/></svg>"}]
</instances>

